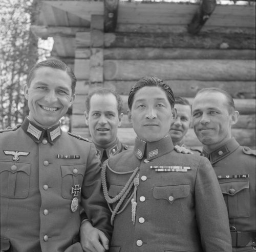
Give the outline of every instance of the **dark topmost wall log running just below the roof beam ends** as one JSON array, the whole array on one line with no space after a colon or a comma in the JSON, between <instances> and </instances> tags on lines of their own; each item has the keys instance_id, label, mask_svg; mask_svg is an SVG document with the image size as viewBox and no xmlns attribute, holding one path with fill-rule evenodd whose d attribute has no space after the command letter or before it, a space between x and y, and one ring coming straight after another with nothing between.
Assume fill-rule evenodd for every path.
<instances>
[{"instance_id":1,"label":"dark topmost wall log running just below the roof beam ends","mask_svg":"<svg viewBox=\"0 0 256 252\"><path fill-rule=\"evenodd\" d=\"M200 33L105 33L105 47L158 47L255 49L255 36L244 34Z\"/></svg>"}]
</instances>

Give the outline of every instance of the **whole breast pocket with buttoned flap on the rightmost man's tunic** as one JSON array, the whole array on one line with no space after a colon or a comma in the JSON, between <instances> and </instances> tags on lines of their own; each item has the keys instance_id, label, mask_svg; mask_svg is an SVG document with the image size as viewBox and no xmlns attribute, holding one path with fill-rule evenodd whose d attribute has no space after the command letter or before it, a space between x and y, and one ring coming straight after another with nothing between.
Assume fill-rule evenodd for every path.
<instances>
[{"instance_id":1,"label":"whole breast pocket with buttoned flap on the rightmost man's tunic","mask_svg":"<svg viewBox=\"0 0 256 252\"><path fill-rule=\"evenodd\" d=\"M249 180L220 182L229 218L250 216Z\"/></svg>"}]
</instances>

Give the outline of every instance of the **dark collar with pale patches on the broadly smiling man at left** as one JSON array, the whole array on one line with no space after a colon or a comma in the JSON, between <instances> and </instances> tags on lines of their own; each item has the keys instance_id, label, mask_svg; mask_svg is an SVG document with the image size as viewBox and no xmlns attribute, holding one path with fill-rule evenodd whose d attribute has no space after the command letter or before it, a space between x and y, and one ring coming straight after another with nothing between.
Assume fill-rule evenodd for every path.
<instances>
[{"instance_id":1,"label":"dark collar with pale patches on the broadly smiling man at left","mask_svg":"<svg viewBox=\"0 0 256 252\"><path fill-rule=\"evenodd\" d=\"M48 142L53 144L54 141L60 137L62 132L59 124L45 129L30 121L28 117L24 119L24 122L22 123L22 129L36 143L40 143L43 138L47 138Z\"/></svg>"}]
</instances>

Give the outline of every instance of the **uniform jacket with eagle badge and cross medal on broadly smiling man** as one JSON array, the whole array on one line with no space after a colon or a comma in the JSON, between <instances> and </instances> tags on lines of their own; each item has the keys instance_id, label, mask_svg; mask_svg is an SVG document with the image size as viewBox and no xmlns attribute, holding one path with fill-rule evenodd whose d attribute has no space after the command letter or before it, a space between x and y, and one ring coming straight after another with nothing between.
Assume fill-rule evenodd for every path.
<instances>
[{"instance_id":1,"label":"uniform jacket with eagle badge and cross medal on broadly smiling man","mask_svg":"<svg viewBox=\"0 0 256 252\"><path fill-rule=\"evenodd\" d=\"M80 204L111 235L94 144L25 119L0 133L1 250L80 252ZM73 210L72 210L73 208Z\"/></svg>"}]
</instances>

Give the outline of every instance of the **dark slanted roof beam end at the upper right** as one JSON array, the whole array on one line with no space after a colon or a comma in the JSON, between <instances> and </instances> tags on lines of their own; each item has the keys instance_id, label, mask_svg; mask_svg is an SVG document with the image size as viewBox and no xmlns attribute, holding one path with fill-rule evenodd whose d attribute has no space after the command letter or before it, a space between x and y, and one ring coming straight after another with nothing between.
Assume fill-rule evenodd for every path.
<instances>
[{"instance_id":1,"label":"dark slanted roof beam end at the upper right","mask_svg":"<svg viewBox=\"0 0 256 252\"><path fill-rule=\"evenodd\" d=\"M187 26L187 31L191 34L197 34L214 12L217 3L216 0L202 0L197 12Z\"/></svg>"}]
</instances>

